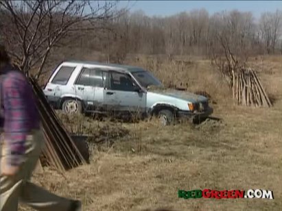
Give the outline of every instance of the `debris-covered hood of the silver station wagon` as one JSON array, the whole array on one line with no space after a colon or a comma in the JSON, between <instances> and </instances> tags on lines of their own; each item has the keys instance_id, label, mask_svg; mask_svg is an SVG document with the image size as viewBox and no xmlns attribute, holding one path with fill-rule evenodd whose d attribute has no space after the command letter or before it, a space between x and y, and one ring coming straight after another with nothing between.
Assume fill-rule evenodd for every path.
<instances>
[{"instance_id":1,"label":"debris-covered hood of the silver station wagon","mask_svg":"<svg viewBox=\"0 0 282 211\"><path fill-rule=\"evenodd\" d=\"M149 92L152 92L158 95L174 97L176 99L183 99L183 100L191 101L192 103L208 100L207 97L204 97L202 95L196 95L191 92L185 92L185 91L180 91L180 90L170 90L170 89L149 90Z\"/></svg>"}]
</instances>

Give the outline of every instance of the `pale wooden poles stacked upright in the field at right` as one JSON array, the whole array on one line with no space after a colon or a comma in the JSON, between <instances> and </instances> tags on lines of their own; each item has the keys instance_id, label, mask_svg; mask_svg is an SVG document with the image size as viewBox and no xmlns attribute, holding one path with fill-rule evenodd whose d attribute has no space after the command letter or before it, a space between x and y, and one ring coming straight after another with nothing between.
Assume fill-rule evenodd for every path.
<instances>
[{"instance_id":1,"label":"pale wooden poles stacked upright in the field at right","mask_svg":"<svg viewBox=\"0 0 282 211\"><path fill-rule=\"evenodd\" d=\"M239 69L234 84L239 105L271 107L272 103L264 90L255 71Z\"/></svg>"}]
</instances>

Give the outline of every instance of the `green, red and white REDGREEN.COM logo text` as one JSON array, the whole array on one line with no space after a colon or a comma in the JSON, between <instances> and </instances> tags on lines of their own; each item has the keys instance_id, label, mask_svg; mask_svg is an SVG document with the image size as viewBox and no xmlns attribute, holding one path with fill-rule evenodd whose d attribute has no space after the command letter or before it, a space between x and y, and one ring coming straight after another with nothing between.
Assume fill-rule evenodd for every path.
<instances>
[{"instance_id":1,"label":"green, red and white REDGREEN.COM logo text","mask_svg":"<svg viewBox=\"0 0 282 211\"><path fill-rule=\"evenodd\" d=\"M274 199L272 190L178 190L178 198L183 199Z\"/></svg>"}]
</instances>

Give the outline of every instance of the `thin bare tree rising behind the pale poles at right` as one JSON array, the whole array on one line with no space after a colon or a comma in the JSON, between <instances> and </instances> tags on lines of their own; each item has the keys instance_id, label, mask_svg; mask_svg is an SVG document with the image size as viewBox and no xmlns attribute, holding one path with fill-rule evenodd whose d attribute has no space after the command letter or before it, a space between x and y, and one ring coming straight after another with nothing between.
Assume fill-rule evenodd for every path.
<instances>
[{"instance_id":1,"label":"thin bare tree rising behind the pale poles at right","mask_svg":"<svg viewBox=\"0 0 282 211\"><path fill-rule=\"evenodd\" d=\"M227 79L235 98L235 79L239 66L246 64L252 45L253 17L249 12L223 12L213 16L212 58Z\"/></svg>"}]
</instances>

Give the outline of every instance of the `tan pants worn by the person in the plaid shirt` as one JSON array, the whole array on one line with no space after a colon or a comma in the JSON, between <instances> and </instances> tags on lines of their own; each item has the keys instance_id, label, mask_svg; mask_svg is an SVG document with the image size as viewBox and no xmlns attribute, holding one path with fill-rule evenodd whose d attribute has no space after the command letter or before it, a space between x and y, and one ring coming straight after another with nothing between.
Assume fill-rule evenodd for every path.
<instances>
[{"instance_id":1,"label":"tan pants worn by the person in the plaid shirt","mask_svg":"<svg viewBox=\"0 0 282 211\"><path fill-rule=\"evenodd\" d=\"M0 211L18 210L19 201L36 210L67 211L71 199L58 197L30 182L41 149L44 147L43 132L36 130L27 138L25 162L19 172L12 176L0 176ZM5 162L6 148L2 147L1 162ZM1 172L0 172L1 175Z\"/></svg>"}]
</instances>

